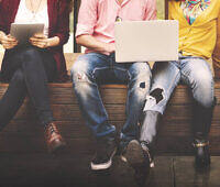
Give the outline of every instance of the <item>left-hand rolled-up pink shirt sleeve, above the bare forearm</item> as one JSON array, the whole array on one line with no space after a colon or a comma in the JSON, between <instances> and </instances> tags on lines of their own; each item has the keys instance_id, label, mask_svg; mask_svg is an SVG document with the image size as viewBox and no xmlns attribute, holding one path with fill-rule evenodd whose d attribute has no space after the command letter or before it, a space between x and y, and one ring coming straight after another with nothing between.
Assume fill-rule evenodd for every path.
<instances>
[{"instance_id":1,"label":"left-hand rolled-up pink shirt sleeve, above the bare forearm","mask_svg":"<svg viewBox=\"0 0 220 187\"><path fill-rule=\"evenodd\" d=\"M84 34L94 34L94 28L97 23L97 0L81 0L76 37Z\"/></svg>"}]
</instances>

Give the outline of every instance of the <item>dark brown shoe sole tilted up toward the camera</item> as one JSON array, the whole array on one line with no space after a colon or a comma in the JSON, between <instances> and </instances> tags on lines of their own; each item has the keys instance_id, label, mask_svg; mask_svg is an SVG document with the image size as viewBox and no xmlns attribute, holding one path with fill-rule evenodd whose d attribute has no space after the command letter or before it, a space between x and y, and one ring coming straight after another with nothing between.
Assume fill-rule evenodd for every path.
<instances>
[{"instance_id":1,"label":"dark brown shoe sole tilted up toward the camera","mask_svg":"<svg viewBox=\"0 0 220 187\"><path fill-rule=\"evenodd\" d=\"M143 150L136 140L133 140L128 144L124 157L133 168L147 167Z\"/></svg>"}]
</instances>

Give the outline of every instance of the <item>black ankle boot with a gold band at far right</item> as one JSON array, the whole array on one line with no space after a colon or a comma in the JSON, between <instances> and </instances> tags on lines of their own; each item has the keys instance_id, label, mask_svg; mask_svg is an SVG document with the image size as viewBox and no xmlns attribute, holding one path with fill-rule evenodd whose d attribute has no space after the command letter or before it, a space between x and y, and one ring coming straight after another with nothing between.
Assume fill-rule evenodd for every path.
<instances>
[{"instance_id":1,"label":"black ankle boot with a gold band at far right","mask_svg":"<svg viewBox=\"0 0 220 187\"><path fill-rule=\"evenodd\" d=\"M207 167L210 165L209 142L205 140L195 140L195 164L196 167Z\"/></svg>"}]
</instances>

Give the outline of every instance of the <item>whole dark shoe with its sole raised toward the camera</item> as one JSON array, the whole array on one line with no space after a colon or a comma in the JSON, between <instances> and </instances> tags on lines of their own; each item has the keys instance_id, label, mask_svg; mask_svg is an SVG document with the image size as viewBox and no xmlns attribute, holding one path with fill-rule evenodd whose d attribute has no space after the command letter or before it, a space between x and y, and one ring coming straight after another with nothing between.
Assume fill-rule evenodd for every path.
<instances>
[{"instance_id":1,"label":"whole dark shoe with its sole raised toward the camera","mask_svg":"<svg viewBox=\"0 0 220 187\"><path fill-rule=\"evenodd\" d=\"M147 146L140 144L136 140L132 140L128 144L121 158L128 162L134 169L150 169L153 166Z\"/></svg>"}]
</instances>

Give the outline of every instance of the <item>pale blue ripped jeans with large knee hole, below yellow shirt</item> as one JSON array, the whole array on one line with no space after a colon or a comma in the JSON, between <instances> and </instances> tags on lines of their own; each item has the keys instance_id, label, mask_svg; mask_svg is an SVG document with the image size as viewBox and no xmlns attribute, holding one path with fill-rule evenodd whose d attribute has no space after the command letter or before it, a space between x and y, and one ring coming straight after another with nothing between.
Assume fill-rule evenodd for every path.
<instances>
[{"instance_id":1,"label":"pale blue ripped jeans with large knee hole, below yellow shirt","mask_svg":"<svg viewBox=\"0 0 220 187\"><path fill-rule=\"evenodd\" d=\"M180 80L189 86L199 105L205 108L213 105L213 77L209 64L201 57L179 55L177 62L155 63L144 111L152 110L163 114L174 88Z\"/></svg>"}]
</instances>

